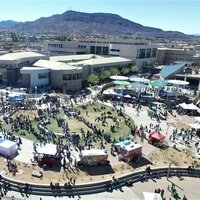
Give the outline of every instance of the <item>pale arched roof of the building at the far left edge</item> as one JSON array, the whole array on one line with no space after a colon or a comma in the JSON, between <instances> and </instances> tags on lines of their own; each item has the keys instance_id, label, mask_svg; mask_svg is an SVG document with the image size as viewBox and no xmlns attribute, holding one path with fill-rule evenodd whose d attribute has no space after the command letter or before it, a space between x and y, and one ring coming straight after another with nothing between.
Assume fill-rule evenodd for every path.
<instances>
[{"instance_id":1,"label":"pale arched roof of the building at the far left edge","mask_svg":"<svg viewBox=\"0 0 200 200\"><path fill-rule=\"evenodd\" d=\"M0 56L0 60L10 60L10 61L14 61L14 60L19 60L22 58L31 58L31 57L46 57L43 54L39 54L36 52L17 52L17 53L8 53L5 55Z\"/></svg>"}]
</instances>

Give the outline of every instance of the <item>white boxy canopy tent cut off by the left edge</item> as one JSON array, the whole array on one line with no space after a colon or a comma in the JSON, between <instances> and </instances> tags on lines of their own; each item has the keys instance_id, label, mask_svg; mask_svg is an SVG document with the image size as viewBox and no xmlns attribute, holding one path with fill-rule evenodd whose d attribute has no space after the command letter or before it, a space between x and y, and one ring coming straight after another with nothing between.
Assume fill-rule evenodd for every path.
<instances>
[{"instance_id":1,"label":"white boxy canopy tent cut off by the left edge","mask_svg":"<svg viewBox=\"0 0 200 200\"><path fill-rule=\"evenodd\" d=\"M15 142L0 138L0 155L13 157L17 154L18 146Z\"/></svg>"}]
</instances>

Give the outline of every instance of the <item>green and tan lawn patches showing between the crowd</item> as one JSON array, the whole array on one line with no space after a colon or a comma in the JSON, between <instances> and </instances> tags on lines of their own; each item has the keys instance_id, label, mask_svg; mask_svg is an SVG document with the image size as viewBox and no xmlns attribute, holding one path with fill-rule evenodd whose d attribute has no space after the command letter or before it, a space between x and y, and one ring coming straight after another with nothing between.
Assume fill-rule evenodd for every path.
<instances>
[{"instance_id":1,"label":"green and tan lawn patches showing between the crowd","mask_svg":"<svg viewBox=\"0 0 200 200\"><path fill-rule=\"evenodd\" d=\"M105 109L102 109L102 106L105 107ZM111 134L111 138L113 138L113 137L118 138L120 136L125 136L130 133L130 127L125 124L124 117L118 116L117 111L115 111L115 109L113 109L112 107L108 107L108 106L105 106L100 103L88 104L88 106L87 106L88 115L86 114L86 110L82 106L79 106L76 109L80 110L80 112L81 112L80 115L83 116L90 123L95 125L97 127L97 129L104 130L104 133ZM98 109L98 111L95 111L95 109ZM117 117L117 121L119 122L119 127L115 129L115 132L112 132L110 129L111 125L115 125L115 122L113 121L113 119L107 118L106 121L108 124L105 126L102 125L101 121L100 122L95 121L95 119L97 117L100 117L104 112L106 112L106 113L110 112L110 116ZM33 128L35 129L35 131L37 133L40 133L40 131L38 130L38 127L37 127L38 122L35 120L35 117L36 118L39 117L37 110L32 110L32 111L20 110L20 111L15 112L12 115L12 118L15 119L17 116L20 116L20 115L29 116L29 119L31 120ZM45 112L45 115L47 115L47 112ZM65 113L63 110L61 110L60 113L57 114L57 118L65 118ZM126 115L126 118L128 119L129 116ZM50 115L49 120L51 121L51 123L46 125L46 128L49 131L53 131L56 133L63 133L62 127L58 127L56 118L53 118L52 115ZM85 132L92 131L88 126L86 126L83 122L78 121L77 119L66 117L66 121L68 123L70 132L80 133L81 129L83 129ZM131 123L131 125L134 125L134 121L131 118L130 118L130 123ZM5 121L2 122L2 127L6 131L11 131L11 124L7 124ZM25 133L25 136L21 135L22 132ZM36 140L36 137L30 131L27 131L25 129L18 130L18 131L14 130L13 134L16 136L24 137L24 138L32 140L32 141Z\"/></svg>"}]
</instances>

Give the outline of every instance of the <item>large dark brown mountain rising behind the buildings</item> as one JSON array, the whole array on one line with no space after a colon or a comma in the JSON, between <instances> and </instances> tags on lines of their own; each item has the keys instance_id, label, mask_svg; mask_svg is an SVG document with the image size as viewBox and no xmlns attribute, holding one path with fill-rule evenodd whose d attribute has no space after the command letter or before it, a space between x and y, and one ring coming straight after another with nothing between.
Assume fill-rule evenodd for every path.
<instances>
[{"instance_id":1,"label":"large dark brown mountain rising behind the buildings","mask_svg":"<svg viewBox=\"0 0 200 200\"><path fill-rule=\"evenodd\" d=\"M134 35L164 38L187 38L181 32L163 31L142 26L116 14L66 11L35 21L18 23L12 30L22 32L63 32L83 35Z\"/></svg>"}]
</instances>

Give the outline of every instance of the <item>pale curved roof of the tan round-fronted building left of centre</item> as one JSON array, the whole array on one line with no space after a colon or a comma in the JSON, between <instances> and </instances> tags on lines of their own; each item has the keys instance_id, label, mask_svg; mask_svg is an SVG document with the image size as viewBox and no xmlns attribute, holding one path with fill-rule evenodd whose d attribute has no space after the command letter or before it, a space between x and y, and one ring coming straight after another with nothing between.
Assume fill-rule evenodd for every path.
<instances>
[{"instance_id":1,"label":"pale curved roof of the tan round-fronted building left of centre","mask_svg":"<svg viewBox=\"0 0 200 200\"><path fill-rule=\"evenodd\" d=\"M73 65L65 64L62 62L55 62L49 60L38 60L33 66L50 68L51 70L77 70L82 69Z\"/></svg>"}]
</instances>

